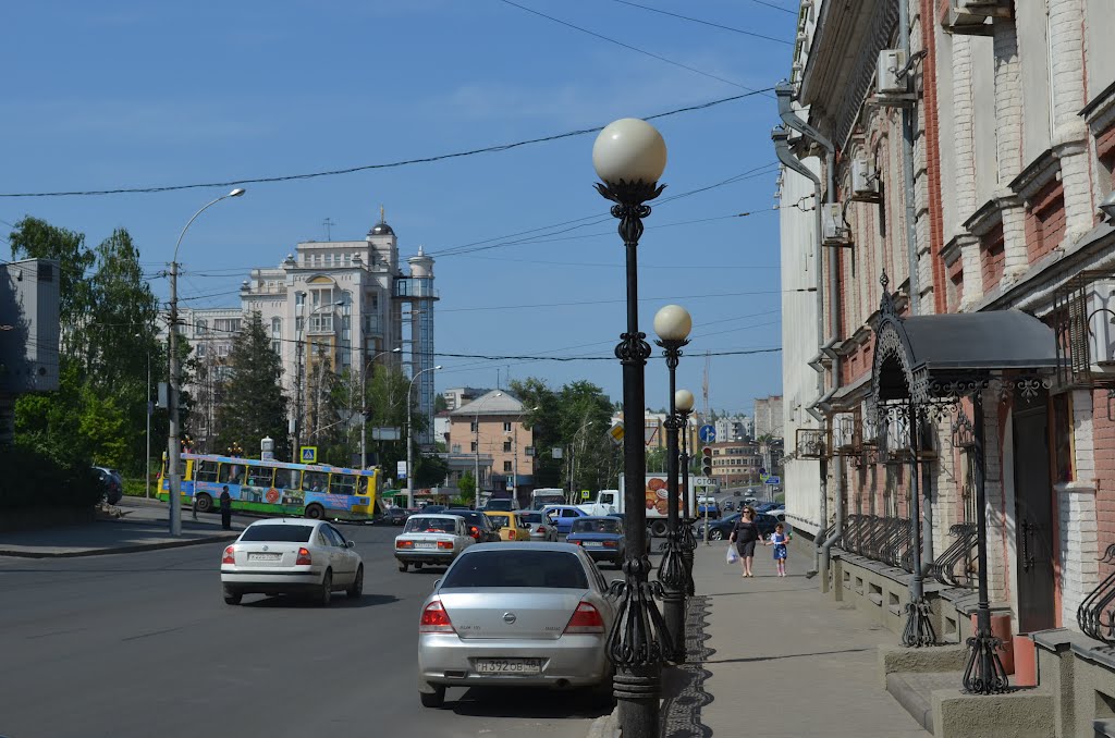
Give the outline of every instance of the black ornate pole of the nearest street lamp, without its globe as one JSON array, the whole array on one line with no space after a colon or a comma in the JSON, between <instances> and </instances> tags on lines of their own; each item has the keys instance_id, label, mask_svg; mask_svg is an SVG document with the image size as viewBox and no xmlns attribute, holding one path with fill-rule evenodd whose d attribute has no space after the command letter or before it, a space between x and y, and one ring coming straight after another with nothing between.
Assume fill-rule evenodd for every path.
<instances>
[{"instance_id":1,"label":"black ornate pole of the nearest street lamp, without its globe","mask_svg":"<svg viewBox=\"0 0 1115 738\"><path fill-rule=\"evenodd\" d=\"M627 252L627 330L615 347L615 358L623 367L623 419L641 425L646 410L643 371L650 357L646 333L639 331L639 239L642 220L650 215L646 203L662 192L657 183L598 184L597 191L615 203L612 215L619 219L619 233ZM651 570L647 556L647 478L646 447L641 433L623 436L623 503L627 511L624 536L627 559L619 612L608 638L609 658L615 664L613 691L619 701L619 717L626 736L659 735L659 681L662 660L671 656L671 640L655 595L658 588L648 582ZM660 585L659 585L660 586Z\"/></svg>"}]
</instances>

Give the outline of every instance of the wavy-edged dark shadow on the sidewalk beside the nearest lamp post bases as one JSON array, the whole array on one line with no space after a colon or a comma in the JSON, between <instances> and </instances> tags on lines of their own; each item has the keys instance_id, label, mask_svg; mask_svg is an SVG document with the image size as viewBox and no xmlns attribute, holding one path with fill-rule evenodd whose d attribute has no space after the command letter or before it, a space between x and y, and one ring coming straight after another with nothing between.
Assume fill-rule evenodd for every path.
<instances>
[{"instance_id":1,"label":"wavy-edged dark shadow on the sidewalk beside the nearest lamp post bases","mask_svg":"<svg viewBox=\"0 0 1115 738\"><path fill-rule=\"evenodd\" d=\"M707 645L706 632L711 600L689 598L686 612L686 663L662 672L662 738L710 738L712 729L701 721L701 710L715 699L705 688L712 676L704 663L716 653Z\"/></svg>"}]
</instances>

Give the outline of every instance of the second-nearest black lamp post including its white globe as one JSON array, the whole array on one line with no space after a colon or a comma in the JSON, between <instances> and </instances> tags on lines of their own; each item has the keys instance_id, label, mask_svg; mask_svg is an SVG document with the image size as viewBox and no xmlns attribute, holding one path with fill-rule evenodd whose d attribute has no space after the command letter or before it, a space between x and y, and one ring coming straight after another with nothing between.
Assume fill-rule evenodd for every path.
<instances>
[{"instance_id":1,"label":"second-nearest black lamp post including its white globe","mask_svg":"<svg viewBox=\"0 0 1115 738\"><path fill-rule=\"evenodd\" d=\"M686 590L689 584L681 534L678 530L678 419L675 395L677 394L677 370L681 359L681 348L689 343L692 318L681 305L666 305L655 314L655 332L666 357L670 371L670 410L666 416L666 553L658 567L658 581L662 583L662 614L670 631L672 657L685 661L686 650Z\"/></svg>"}]
</instances>

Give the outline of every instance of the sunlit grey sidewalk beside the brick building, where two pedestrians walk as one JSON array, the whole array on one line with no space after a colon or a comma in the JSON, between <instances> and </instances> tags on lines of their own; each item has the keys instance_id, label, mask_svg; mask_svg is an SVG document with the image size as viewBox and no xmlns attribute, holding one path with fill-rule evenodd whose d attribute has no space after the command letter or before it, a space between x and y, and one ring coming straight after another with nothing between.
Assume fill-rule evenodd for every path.
<instances>
[{"instance_id":1,"label":"sunlit grey sidewalk beside the brick building, where two pedestrians walk","mask_svg":"<svg viewBox=\"0 0 1115 738\"><path fill-rule=\"evenodd\" d=\"M766 546L755 552L755 576L743 579L726 546L697 546L689 658L663 671L662 736L932 735L880 686L878 647L895 643L892 633L825 600L793 551L785 579ZM614 712L600 718L590 736L617 736L615 721Z\"/></svg>"}]
</instances>

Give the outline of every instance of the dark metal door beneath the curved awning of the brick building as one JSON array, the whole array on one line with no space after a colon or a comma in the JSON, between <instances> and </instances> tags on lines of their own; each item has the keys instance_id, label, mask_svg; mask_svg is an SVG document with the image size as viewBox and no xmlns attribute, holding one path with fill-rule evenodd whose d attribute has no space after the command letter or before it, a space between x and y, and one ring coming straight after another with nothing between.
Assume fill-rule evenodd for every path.
<instances>
[{"instance_id":1,"label":"dark metal door beneath the curved awning of the brick building","mask_svg":"<svg viewBox=\"0 0 1115 738\"><path fill-rule=\"evenodd\" d=\"M1046 397L1016 406L1015 542L1018 629L1022 633L1056 627L1053 581L1053 482Z\"/></svg>"}]
</instances>

